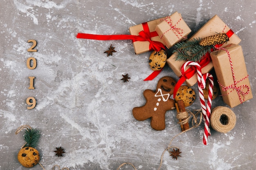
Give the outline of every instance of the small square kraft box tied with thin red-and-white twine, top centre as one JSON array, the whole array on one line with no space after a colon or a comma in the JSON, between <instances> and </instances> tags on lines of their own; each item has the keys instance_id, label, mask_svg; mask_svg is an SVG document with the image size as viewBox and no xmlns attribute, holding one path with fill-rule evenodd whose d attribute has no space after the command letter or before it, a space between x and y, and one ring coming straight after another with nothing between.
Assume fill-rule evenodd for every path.
<instances>
[{"instance_id":1,"label":"small square kraft box tied with thin red-and-white twine, top centre","mask_svg":"<svg viewBox=\"0 0 256 170\"><path fill-rule=\"evenodd\" d=\"M182 19L180 13L175 12L162 20L160 24L155 27L155 31L164 42L164 45L169 49L177 42L186 40L191 29Z\"/></svg>"}]
</instances>

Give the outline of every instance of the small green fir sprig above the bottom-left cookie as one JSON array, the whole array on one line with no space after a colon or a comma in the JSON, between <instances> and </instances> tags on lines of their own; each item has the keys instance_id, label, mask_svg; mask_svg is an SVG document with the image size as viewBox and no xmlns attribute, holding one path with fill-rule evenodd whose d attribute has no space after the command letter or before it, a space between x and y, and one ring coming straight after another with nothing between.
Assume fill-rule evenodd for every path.
<instances>
[{"instance_id":1,"label":"small green fir sprig above the bottom-left cookie","mask_svg":"<svg viewBox=\"0 0 256 170\"><path fill-rule=\"evenodd\" d=\"M24 140L27 142L25 146L36 148L40 138L39 129L27 129L24 134Z\"/></svg>"}]
</instances>

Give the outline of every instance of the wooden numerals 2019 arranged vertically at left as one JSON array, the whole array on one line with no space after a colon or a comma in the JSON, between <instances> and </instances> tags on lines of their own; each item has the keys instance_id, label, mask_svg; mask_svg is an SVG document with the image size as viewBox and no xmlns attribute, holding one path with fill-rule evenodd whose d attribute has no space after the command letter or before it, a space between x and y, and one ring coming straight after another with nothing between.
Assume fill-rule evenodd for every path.
<instances>
[{"instance_id":1,"label":"wooden numerals 2019 arranged vertically at left","mask_svg":"<svg viewBox=\"0 0 256 170\"><path fill-rule=\"evenodd\" d=\"M29 42L33 42L32 46L27 49L29 52L37 52L37 49L34 49L36 47L36 40L28 40ZM32 61L32 62L31 62ZM27 59L27 68L33 70L36 68L36 59L34 57L29 57ZM29 77L29 89L35 89L34 88L34 79L35 77ZM34 97L28 97L26 100L26 103L31 106L27 106L27 109L32 109L36 107L36 99Z\"/></svg>"}]
</instances>

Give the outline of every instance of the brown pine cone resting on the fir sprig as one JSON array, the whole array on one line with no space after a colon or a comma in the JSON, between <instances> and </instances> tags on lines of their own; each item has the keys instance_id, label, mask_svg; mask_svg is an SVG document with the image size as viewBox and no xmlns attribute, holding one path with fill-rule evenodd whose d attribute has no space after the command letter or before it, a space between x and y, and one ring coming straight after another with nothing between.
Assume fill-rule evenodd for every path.
<instances>
[{"instance_id":1,"label":"brown pine cone resting on the fir sprig","mask_svg":"<svg viewBox=\"0 0 256 170\"><path fill-rule=\"evenodd\" d=\"M200 42L200 46L209 46L209 45L216 45L216 44L224 44L229 41L229 37L226 33L219 33L216 35L211 35L209 37L203 38Z\"/></svg>"}]
</instances>

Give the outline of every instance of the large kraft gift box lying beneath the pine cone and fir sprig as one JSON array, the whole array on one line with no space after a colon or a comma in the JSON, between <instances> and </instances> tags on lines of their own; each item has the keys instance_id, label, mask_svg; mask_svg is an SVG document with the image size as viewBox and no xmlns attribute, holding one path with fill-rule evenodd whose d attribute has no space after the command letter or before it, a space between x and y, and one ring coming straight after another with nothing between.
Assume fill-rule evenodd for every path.
<instances>
[{"instance_id":1,"label":"large kraft gift box lying beneath the pine cone and fir sprig","mask_svg":"<svg viewBox=\"0 0 256 170\"><path fill-rule=\"evenodd\" d=\"M193 40L194 38L205 38L211 35L215 35L216 33L222 33L225 32L232 32L230 28L218 17L218 15L214 15L213 18L211 18L207 23L204 24L194 35L189 38L189 40ZM240 38L236 34L232 34L229 37L229 42L226 44L223 44L222 47L225 47L229 44L239 44ZM171 57L169 57L166 62L169 67L173 70L173 72L180 77L181 71L180 68L181 66L186 62L186 61L176 61L176 53L173 53ZM189 66L188 66L189 68ZM206 66L202 68L202 73L208 73L211 71L213 68L212 62L209 62ZM197 83L197 74L195 73L190 79L186 79L186 84L188 86L193 86L195 83Z\"/></svg>"}]
</instances>

